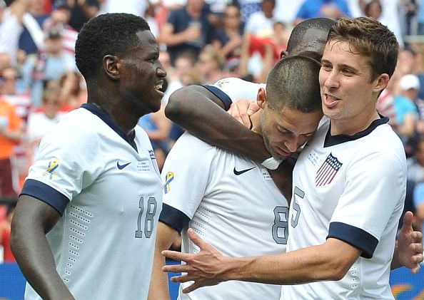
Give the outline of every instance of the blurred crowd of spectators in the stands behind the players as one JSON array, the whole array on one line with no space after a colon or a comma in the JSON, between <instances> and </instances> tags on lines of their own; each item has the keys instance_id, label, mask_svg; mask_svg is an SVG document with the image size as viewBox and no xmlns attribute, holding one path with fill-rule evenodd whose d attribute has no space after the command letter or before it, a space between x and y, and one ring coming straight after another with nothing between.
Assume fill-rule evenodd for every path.
<instances>
[{"instance_id":1,"label":"blurred crowd of spectators in the stands behind the players","mask_svg":"<svg viewBox=\"0 0 424 300\"><path fill-rule=\"evenodd\" d=\"M163 107L176 89L238 77L265 82L291 29L313 17L371 16L388 26L401 51L378 110L405 145L407 208L424 220L424 1L420 0L0 0L0 199L16 198L41 138L86 101L74 60L84 22L97 14L143 16L168 75ZM101 34L101 32L99 33ZM141 118L159 166L183 129L163 108ZM390 145L388 145L390 147ZM0 205L6 256L13 204ZM1 259L0 259L1 260Z\"/></svg>"}]
</instances>

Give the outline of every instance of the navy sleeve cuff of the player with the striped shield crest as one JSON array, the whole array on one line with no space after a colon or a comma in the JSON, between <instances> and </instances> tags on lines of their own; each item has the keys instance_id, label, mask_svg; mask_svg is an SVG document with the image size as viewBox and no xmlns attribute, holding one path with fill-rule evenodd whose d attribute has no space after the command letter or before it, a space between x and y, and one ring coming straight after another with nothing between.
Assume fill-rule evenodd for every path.
<instances>
[{"instance_id":1,"label":"navy sleeve cuff of the player with the striped shield crest","mask_svg":"<svg viewBox=\"0 0 424 300\"><path fill-rule=\"evenodd\" d=\"M329 237L340 239L341 241L360 249L362 251L360 256L365 259L373 257L375 248L378 244L378 239L368 232L365 232L365 230L341 222L330 223L327 239Z\"/></svg>"}]
</instances>

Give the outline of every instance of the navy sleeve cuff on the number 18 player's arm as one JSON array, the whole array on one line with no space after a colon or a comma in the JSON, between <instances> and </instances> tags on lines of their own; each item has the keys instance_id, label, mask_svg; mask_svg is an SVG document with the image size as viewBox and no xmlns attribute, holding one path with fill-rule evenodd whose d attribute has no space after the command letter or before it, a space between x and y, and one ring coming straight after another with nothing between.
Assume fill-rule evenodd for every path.
<instances>
[{"instance_id":1,"label":"navy sleeve cuff on the number 18 player's arm","mask_svg":"<svg viewBox=\"0 0 424 300\"><path fill-rule=\"evenodd\" d=\"M54 190L53 187L50 187L43 182L32 179L25 181L21 195L28 195L37 198L38 200L41 200L53 207L61 215L64 213L66 205L69 203L69 199L61 192Z\"/></svg>"}]
</instances>

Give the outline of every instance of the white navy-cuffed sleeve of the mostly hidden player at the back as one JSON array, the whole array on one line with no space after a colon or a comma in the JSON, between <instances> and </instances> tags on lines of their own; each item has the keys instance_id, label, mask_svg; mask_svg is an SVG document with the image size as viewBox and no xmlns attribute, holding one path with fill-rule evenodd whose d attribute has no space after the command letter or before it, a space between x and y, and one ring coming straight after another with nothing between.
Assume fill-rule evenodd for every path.
<instances>
[{"instance_id":1,"label":"white navy-cuffed sleeve of the mostly hidden player at the back","mask_svg":"<svg viewBox=\"0 0 424 300\"><path fill-rule=\"evenodd\" d=\"M243 79L229 77L217 81L211 86L204 86L211 93L220 98L228 110L231 103L237 102L240 99L256 101L259 88L265 88L263 83L251 83L243 81Z\"/></svg>"}]
</instances>

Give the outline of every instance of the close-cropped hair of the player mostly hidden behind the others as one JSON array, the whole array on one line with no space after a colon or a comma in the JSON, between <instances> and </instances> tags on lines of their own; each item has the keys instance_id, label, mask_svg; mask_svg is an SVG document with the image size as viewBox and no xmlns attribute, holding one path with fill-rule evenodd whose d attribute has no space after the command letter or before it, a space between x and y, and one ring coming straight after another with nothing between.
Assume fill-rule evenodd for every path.
<instances>
[{"instance_id":1,"label":"close-cropped hair of the player mostly hidden behind the others","mask_svg":"<svg viewBox=\"0 0 424 300\"><path fill-rule=\"evenodd\" d=\"M287 42L288 56L299 55L303 51L318 51L323 53L325 42L327 41L328 31L334 25L334 21L328 18L313 18L302 21L293 28L290 38ZM308 29L318 29L323 33L322 36L313 38L306 38L306 31ZM320 60L320 57L318 58Z\"/></svg>"}]
</instances>

